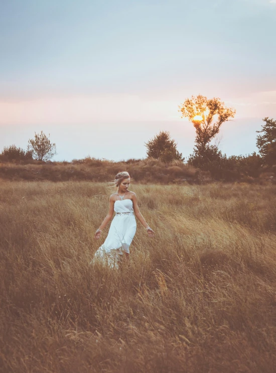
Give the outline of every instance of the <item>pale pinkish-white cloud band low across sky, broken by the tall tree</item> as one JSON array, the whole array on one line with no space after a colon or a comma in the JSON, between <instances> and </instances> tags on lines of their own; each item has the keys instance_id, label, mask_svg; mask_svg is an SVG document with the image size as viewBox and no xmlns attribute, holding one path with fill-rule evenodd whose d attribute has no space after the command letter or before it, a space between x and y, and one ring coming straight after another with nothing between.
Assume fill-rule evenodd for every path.
<instances>
[{"instance_id":1,"label":"pale pinkish-white cloud band low across sky, broken by the tall tree","mask_svg":"<svg viewBox=\"0 0 276 373\"><path fill-rule=\"evenodd\" d=\"M235 118L275 116L276 91L261 91L225 99ZM0 101L0 125L77 124L92 122L178 121L179 99L139 95L79 95L28 101Z\"/></svg>"}]
</instances>

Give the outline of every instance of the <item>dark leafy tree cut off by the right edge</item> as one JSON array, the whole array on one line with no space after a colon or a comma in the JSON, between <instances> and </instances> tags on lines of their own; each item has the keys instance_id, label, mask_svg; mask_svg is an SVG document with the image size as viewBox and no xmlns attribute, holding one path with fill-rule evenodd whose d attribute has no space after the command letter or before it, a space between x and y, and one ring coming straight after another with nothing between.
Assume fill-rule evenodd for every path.
<instances>
[{"instance_id":1,"label":"dark leafy tree cut off by the right edge","mask_svg":"<svg viewBox=\"0 0 276 373\"><path fill-rule=\"evenodd\" d=\"M260 131L256 131L262 133L257 136L256 145L263 163L273 165L276 164L276 120L268 119L268 117L262 120L265 124L261 126Z\"/></svg>"}]
</instances>

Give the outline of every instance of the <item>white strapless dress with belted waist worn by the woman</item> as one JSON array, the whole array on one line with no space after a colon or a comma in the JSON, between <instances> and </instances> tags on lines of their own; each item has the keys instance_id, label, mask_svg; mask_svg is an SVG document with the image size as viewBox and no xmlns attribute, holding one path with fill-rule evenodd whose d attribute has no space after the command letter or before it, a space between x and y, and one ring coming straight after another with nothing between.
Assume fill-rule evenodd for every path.
<instances>
[{"instance_id":1,"label":"white strapless dress with belted waist worn by the woman","mask_svg":"<svg viewBox=\"0 0 276 373\"><path fill-rule=\"evenodd\" d=\"M131 200L115 201L113 218L106 240L96 251L94 259L107 262L108 265L117 266L123 251L129 253L129 246L136 232L136 220Z\"/></svg>"}]
</instances>

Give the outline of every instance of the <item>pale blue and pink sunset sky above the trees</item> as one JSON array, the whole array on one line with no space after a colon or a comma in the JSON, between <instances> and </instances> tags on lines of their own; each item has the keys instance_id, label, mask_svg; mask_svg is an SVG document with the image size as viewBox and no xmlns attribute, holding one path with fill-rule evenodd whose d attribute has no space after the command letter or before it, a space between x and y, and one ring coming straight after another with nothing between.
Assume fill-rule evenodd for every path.
<instances>
[{"instance_id":1,"label":"pale blue and pink sunset sky above the trees","mask_svg":"<svg viewBox=\"0 0 276 373\"><path fill-rule=\"evenodd\" d=\"M0 0L0 151L43 130L56 160L142 158L168 130L186 157L180 105L220 97L227 155L256 150L276 118L276 0Z\"/></svg>"}]
</instances>

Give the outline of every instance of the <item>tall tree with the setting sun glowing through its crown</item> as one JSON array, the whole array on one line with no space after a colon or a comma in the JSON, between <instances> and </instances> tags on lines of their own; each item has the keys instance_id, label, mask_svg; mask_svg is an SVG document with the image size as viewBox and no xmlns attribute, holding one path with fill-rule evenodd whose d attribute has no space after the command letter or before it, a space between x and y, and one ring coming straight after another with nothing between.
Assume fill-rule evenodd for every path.
<instances>
[{"instance_id":1,"label":"tall tree with the setting sun glowing through its crown","mask_svg":"<svg viewBox=\"0 0 276 373\"><path fill-rule=\"evenodd\" d=\"M220 98L207 99L198 95L187 98L179 106L182 118L187 117L196 129L195 153L204 156L208 152L210 141L219 133L222 123L233 118L236 110L225 107Z\"/></svg>"}]
</instances>

